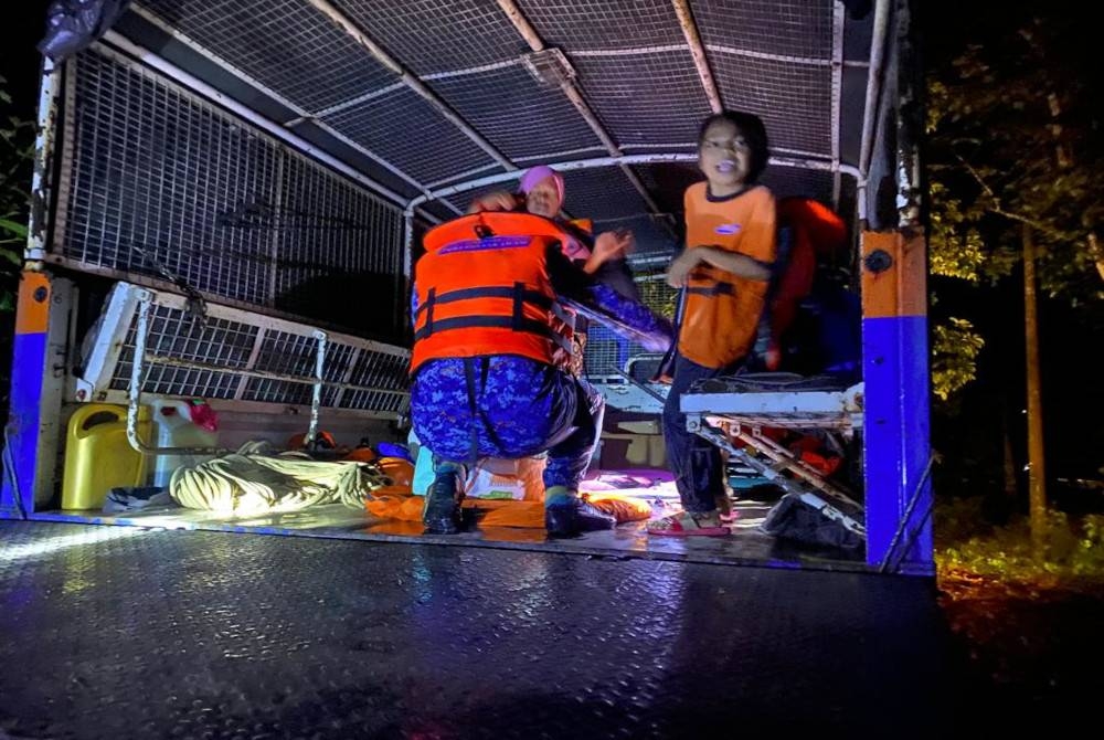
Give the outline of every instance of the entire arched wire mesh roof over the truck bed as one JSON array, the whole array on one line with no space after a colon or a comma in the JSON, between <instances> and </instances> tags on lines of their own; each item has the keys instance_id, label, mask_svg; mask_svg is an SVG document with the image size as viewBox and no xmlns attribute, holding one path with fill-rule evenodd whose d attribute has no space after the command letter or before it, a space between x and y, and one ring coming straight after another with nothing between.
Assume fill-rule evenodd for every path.
<instances>
[{"instance_id":1,"label":"entire arched wire mesh roof over the truck bed","mask_svg":"<svg viewBox=\"0 0 1104 740\"><path fill-rule=\"evenodd\" d=\"M355 29L349 33L301 0L139 3L144 14L155 14L201 54L209 50L428 188L487 175L499 163L374 60L353 40L357 33L417 75L519 167L606 154L558 85L538 82L530 66L562 66L574 76L626 154L690 152L710 112L669 0L518 0L521 22L545 46L539 53L517 19L490 0L335 2L333 10ZM763 117L777 154L830 158L840 150L832 137L847 131L834 120L840 104L832 96L842 91L832 64L848 34L858 40L852 47L861 57L869 20L845 22L832 0L689 4L726 107ZM799 191L818 187L820 176L808 177ZM681 189L672 193L659 183L649 192L675 202L673 212L681 210ZM605 212L592 203L580 213L624 214L619 200L605 203L618 208Z\"/></svg>"}]
</instances>

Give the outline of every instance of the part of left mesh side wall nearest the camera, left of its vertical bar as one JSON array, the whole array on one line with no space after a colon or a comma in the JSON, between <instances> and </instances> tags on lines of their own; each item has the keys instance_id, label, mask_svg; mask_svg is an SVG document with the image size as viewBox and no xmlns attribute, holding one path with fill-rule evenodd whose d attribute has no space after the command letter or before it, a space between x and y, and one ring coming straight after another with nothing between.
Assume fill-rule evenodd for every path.
<instances>
[{"instance_id":1,"label":"part of left mesh side wall nearest the camera, left of its vertical bar","mask_svg":"<svg viewBox=\"0 0 1104 740\"><path fill-rule=\"evenodd\" d=\"M78 263L158 274L265 304L272 233L226 231L237 203L277 195L279 149L149 73L83 54L71 202L57 245Z\"/></svg>"}]
</instances>

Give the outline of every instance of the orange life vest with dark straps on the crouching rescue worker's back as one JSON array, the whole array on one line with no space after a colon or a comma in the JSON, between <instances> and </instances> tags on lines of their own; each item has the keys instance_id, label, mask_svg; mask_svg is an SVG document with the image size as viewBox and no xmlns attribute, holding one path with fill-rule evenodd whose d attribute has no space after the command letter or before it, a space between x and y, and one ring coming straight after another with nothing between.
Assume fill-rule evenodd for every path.
<instances>
[{"instance_id":1,"label":"orange life vest with dark straps on the crouching rescue worker's back","mask_svg":"<svg viewBox=\"0 0 1104 740\"><path fill-rule=\"evenodd\" d=\"M556 304L546 256L564 239L548 219L510 212L475 213L426 233L414 268L411 373L438 358L519 355L553 364L570 355L572 321Z\"/></svg>"}]
</instances>

